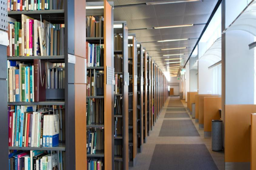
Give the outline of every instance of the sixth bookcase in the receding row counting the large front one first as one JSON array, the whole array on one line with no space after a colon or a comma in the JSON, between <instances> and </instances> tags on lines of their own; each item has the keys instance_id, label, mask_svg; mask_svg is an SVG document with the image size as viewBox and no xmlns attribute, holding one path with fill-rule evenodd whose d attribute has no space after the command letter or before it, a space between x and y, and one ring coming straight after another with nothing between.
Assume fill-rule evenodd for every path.
<instances>
[{"instance_id":1,"label":"sixth bookcase in the receding row counting the large front one first","mask_svg":"<svg viewBox=\"0 0 256 170\"><path fill-rule=\"evenodd\" d=\"M143 54L143 73L144 73L144 113L145 113L145 129L144 129L144 142L147 142L147 136L150 130L150 118L149 118L149 113L148 113L148 54L147 51L144 52Z\"/></svg>"}]
</instances>

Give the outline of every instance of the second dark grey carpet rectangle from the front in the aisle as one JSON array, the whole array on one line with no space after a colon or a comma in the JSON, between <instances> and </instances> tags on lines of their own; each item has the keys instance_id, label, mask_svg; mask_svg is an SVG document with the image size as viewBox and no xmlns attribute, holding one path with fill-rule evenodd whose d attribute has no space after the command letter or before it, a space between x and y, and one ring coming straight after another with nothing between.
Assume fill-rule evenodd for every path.
<instances>
[{"instance_id":1,"label":"second dark grey carpet rectangle from the front in the aisle","mask_svg":"<svg viewBox=\"0 0 256 170\"><path fill-rule=\"evenodd\" d=\"M164 120L159 136L200 136L191 120Z\"/></svg>"}]
</instances>

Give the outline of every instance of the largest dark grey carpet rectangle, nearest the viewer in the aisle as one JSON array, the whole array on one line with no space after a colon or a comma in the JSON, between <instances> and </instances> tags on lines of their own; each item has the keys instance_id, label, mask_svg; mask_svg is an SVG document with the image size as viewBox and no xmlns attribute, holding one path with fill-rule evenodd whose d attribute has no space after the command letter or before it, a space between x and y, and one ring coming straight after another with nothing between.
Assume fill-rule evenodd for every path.
<instances>
[{"instance_id":1,"label":"largest dark grey carpet rectangle, nearest the viewer in the aisle","mask_svg":"<svg viewBox=\"0 0 256 170\"><path fill-rule=\"evenodd\" d=\"M205 144L157 144L150 170L218 170Z\"/></svg>"}]
</instances>

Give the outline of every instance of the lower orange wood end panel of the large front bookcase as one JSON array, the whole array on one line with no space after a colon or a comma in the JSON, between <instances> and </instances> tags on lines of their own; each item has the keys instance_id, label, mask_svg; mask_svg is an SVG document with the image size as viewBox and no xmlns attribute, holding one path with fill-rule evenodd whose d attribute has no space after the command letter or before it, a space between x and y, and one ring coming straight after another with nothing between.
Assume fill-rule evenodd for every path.
<instances>
[{"instance_id":1,"label":"lower orange wood end panel of the large front bookcase","mask_svg":"<svg viewBox=\"0 0 256 170\"><path fill-rule=\"evenodd\" d=\"M85 169L86 158L86 84L75 84L75 167Z\"/></svg>"}]
</instances>

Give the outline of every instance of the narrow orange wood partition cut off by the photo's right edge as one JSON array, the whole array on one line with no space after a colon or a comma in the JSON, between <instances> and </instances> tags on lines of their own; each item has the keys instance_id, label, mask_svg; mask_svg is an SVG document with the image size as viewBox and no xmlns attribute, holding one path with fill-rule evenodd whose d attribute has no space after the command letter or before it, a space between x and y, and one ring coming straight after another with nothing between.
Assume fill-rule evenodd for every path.
<instances>
[{"instance_id":1,"label":"narrow orange wood partition cut off by the photo's right edge","mask_svg":"<svg viewBox=\"0 0 256 170\"><path fill-rule=\"evenodd\" d=\"M251 170L256 170L256 114L251 114Z\"/></svg>"}]
</instances>

